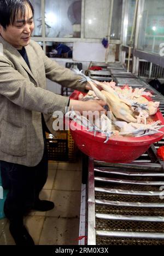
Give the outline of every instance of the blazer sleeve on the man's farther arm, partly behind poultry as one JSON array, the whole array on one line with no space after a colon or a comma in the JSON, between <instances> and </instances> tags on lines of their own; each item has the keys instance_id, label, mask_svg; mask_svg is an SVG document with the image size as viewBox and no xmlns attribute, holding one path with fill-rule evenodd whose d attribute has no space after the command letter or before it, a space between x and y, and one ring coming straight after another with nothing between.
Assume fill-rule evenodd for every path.
<instances>
[{"instance_id":1,"label":"blazer sleeve on the man's farther arm, partly behind poultry","mask_svg":"<svg viewBox=\"0 0 164 256\"><path fill-rule=\"evenodd\" d=\"M57 82L64 87L73 88L74 90L81 92L88 92L85 90L86 83L81 84L79 82L81 76L74 74L72 70L58 65L58 63L56 63L54 60L48 58L38 43L35 44L35 47L37 47L37 51L40 51L40 54L42 54L45 66L45 74L48 79Z\"/></svg>"}]
</instances>

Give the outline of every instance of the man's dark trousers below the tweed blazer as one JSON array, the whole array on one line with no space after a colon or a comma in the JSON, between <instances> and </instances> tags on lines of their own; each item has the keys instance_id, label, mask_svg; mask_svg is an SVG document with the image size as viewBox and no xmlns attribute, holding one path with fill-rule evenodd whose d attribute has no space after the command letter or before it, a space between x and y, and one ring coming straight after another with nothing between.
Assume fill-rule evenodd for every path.
<instances>
[{"instance_id":1,"label":"man's dark trousers below the tweed blazer","mask_svg":"<svg viewBox=\"0 0 164 256\"><path fill-rule=\"evenodd\" d=\"M9 190L4 213L10 221L22 220L39 199L48 177L48 153L44 150L40 163L33 167L0 160L2 187Z\"/></svg>"}]
</instances>

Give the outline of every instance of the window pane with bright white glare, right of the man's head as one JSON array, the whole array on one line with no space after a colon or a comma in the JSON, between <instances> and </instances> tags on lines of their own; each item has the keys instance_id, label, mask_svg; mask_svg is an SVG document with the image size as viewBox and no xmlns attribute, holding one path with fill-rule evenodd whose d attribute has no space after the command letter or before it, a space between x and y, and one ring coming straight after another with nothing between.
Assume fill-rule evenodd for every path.
<instances>
[{"instance_id":1,"label":"window pane with bright white glare, right of the man's head","mask_svg":"<svg viewBox=\"0 0 164 256\"><path fill-rule=\"evenodd\" d=\"M45 1L45 36L80 37L81 0Z\"/></svg>"}]
</instances>

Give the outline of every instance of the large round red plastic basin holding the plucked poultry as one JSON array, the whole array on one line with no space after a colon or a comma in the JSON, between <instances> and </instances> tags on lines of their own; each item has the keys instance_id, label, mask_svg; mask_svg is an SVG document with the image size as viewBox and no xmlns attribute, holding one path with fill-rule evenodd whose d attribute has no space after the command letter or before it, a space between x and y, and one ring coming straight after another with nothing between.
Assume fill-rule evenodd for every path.
<instances>
[{"instance_id":1,"label":"large round red plastic basin holding the plucked poultry","mask_svg":"<svg viewBox=\"0 0 164 256\"><path fill-rule=\"evenodd\" d=\"M74 91L71 98L78 99L79 93ZM159 110L154 115L154 120L161 120L161 125L164 125L164 119ZM143 137L112 136L107 143L104 143L106 136L102 136L101 133L97 132L94 136L93 132L84 130L84 127L82 130L81 126L73 120L69 125L73 140L83 153L93 159L110 163L131 162L145 153L152 143L160 141L163 137L162 133ZM160 131L164 132L164 127Z\"/></svg>"}]
</instances>

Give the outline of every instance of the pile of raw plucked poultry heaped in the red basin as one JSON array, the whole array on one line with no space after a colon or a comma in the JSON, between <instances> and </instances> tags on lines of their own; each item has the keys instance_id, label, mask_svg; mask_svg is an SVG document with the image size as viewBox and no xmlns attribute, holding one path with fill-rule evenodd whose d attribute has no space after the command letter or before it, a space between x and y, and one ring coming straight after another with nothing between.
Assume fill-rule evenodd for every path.
<instances>
[{"instance_id":1,"label":"pile of raw plucked poultry heaped in the red basin","mask_svg":"<svg viewBox=\"0 0 164 256\"><path fill-rule=\"evenodd\" d=\"M156 114L160 102L148 101L145 96L151 97L150 92L145 92L145 88L115 86L115 82L99 82L85 76L79 70L75 73L83 76L82 82L89 82L92 91L85 96L79 94L79 100L87 101L91 99L101 99L106 102L110 115L102 114L100 118L88 120L85 116L77 115L73 110L67 114L78 124L83 125L88 131L102 132L109 137L114 135L140 137L151 135L163 127L161 121L152 121L152 115ZM101 90L99 90L101 88Z\"/></svg>"}]
</instances>

